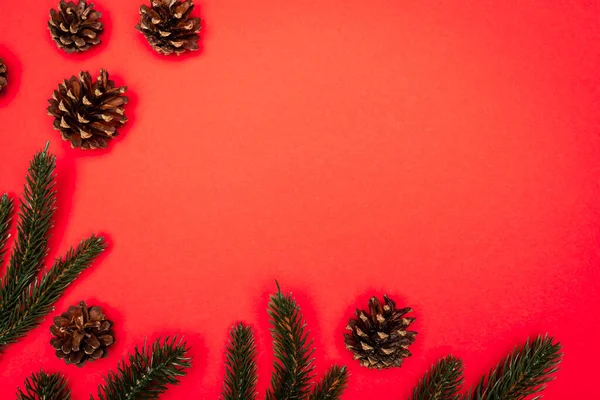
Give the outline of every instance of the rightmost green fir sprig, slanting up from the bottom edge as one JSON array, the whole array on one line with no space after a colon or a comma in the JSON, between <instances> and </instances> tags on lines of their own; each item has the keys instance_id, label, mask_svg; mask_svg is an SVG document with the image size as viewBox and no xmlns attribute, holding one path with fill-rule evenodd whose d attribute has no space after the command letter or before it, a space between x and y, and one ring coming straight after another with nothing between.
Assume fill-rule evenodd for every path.
<instances>
[{"instance_id":1,"label":"rightmost green fir sprig, slanting up from the bottom edge","mask_svg":"<svg viewBox=\"0 0 600 400\"><path fill-rule=\"evenodd\" d=\"M529 339L493 368L466 398L471 400L522 400L540 393L554 379L562 361L560 343L546 336ZM532 400L540 399L536 396Z\"/></svg>"}]
</instances>

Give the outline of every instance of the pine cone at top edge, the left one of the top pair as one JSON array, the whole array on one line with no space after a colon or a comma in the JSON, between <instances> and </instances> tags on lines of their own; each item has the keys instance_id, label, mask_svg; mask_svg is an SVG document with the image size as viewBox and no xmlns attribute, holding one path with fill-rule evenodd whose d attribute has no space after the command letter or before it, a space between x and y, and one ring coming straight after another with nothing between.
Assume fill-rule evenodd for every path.
<instances>
[{"instance_id":1,"label":"pine cone at top edge, the left one of the top pair","mask_svg":"<svg viewBox=\"0 0 600 400\"><path fill-rule=\"evenodd\" d=\"M88 5L79 0L75 5L60 0L58 10L50 10L48 29L56 45L67 53L85 51L100 43L98 36L103 29L100 16L102 13L94 11L94 3Z\"/></svg>"}]
</instances>

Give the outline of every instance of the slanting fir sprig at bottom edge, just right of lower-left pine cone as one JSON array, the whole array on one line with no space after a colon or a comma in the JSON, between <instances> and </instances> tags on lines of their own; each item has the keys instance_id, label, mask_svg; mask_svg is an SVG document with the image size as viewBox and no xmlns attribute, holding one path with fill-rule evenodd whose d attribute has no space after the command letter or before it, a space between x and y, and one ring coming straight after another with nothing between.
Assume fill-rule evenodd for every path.
<instances>
[{"instance_id":1,"label":"slanting fir sprig at bottom edge, just right of lower-left pine cone","mask_svg":"<svg viewBox=\"0 0 600 400\"><path fill-rule=\"evenodd\" d=\"M121 361L118 371L109 372L98 387L100 400L157 399L168 385L179 383L179 377L191 367L186 343L177 337L157 339L151 346L135 348L129 362Z\"/></svg>"}]
</instances>

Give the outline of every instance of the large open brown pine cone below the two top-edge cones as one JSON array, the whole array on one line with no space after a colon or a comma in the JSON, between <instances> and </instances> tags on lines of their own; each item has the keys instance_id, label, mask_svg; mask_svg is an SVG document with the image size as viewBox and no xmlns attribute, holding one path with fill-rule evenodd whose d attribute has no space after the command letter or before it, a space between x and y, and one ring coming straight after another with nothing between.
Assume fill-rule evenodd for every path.
<instances>
[{"instance_id":1,"label":"large open brown pine cone below the two top-edge cones","mask_svg":"<svg viewBox=\"0 0 600 400\"><path fill-rule=\"evenodd\" d=\"M127 118L124 115L127 87L115 87L108 72L100 70L95 82L89 72L80 72L58 85L48 100L48 115L54 117L54 129L71 147L95 149L106 147L107 141L118 136L117 128Z\"/></svg>"}]
</instances>

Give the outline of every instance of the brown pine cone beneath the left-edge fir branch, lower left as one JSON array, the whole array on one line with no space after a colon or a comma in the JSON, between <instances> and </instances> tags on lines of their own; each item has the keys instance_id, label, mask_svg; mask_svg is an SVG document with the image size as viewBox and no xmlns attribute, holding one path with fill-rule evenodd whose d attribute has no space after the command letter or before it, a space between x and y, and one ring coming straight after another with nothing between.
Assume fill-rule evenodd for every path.
<instances>
[{"instance_id":1,"label":"brown pine cone beneath the left-edge fir branch, lower left","mask_svg":"<svg viewBox=\"0 0 600 400\"><path fill-rule=\"evenodd\" d=\"M78 367L106 357L106 348L115 341L112 322L105 319L100 307L88 308L84 301L55 317L50 332L56 356Z\"/></svg>"}]
</instances>

